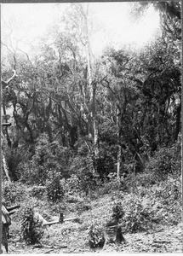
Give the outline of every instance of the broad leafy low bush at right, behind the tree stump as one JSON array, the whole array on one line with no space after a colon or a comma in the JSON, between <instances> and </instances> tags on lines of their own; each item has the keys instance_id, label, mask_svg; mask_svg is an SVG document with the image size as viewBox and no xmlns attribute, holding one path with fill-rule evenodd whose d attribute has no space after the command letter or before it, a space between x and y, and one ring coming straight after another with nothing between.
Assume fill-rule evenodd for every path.
<instances>
[{"instance_id":1,"label":"broad leafy low bush at right, behind the tree stump","mask_svg":"<svg viewBox=\"0 0 183 256\"><path fill-rule=\"evenodd\" d=\"M178 224L181 220L181 181L168 176L166 181L149 186L136 186L134 193L118 196L122 203L123 229L140 232L159 224ZM118 209L119 210L119 209Z\"/></svg>"}]
</instances>

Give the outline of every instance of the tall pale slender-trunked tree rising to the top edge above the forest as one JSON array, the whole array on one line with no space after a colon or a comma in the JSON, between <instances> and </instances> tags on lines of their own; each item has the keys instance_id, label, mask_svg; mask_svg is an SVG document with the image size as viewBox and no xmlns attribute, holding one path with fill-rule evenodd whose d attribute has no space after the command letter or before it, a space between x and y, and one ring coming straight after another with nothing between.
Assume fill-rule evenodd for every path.
<instances>
[{"instance_id":1,"label":"tall pale slender-trunked tree rising to the top edge above the forest","mask_svg":"<svg viewBox=\"0 0 183 256\"><path fill-rule=\"evenodd\" d=\"M85 99L83 108L87 108L88 122L92 125L92 137L94 146L94 172L96 172L96 162L99 158L98 148L98 121L96 114L96 80L94 79L94 68L92 63L92 51L89 38L89 3L74 3L71 7L72 27L77 30L80 43L86 52L87 61L87 90L89 90L88 100Z\"/></svg>"}]
</instances>

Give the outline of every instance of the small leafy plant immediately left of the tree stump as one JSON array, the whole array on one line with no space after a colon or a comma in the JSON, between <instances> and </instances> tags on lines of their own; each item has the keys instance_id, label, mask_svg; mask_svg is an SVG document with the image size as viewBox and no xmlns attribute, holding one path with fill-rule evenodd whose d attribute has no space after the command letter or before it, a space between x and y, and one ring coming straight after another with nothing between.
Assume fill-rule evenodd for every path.
<instances>
[{"instance_id":1,"label":"small leafy plant immediately left of the tree stump","mask_svg":"<svg viewBox=\"0 0 183 256\"><path fill-rule=\"evenodd\" d=\"M89 227L89 247L103 247L105 244L105 235L98 225L91 225Z\"/></svg>"}]
</instances>

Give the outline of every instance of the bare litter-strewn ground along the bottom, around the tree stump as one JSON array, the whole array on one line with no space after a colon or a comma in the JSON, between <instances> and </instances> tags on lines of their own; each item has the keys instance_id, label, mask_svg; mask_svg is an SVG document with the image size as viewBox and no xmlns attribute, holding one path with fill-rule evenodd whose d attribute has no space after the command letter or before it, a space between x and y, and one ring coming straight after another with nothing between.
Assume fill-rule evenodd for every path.
<instances>
[{"instance_id":1,"label":"bare litter-strewn ground along the bottom, around the tree stump","mask_svg":"<svg viewBox=\"0 0 183 256\"><path fill-rule=\"evenodd\" d=\"M67 222L45 229L42 244L27 246L19 237L11 236L9 253L182 253L181 227L179 224L156 232L125 234L126 244L92 250L87 243L88 230L81 230L78 223Z\"/></svg>"}]
</instances>

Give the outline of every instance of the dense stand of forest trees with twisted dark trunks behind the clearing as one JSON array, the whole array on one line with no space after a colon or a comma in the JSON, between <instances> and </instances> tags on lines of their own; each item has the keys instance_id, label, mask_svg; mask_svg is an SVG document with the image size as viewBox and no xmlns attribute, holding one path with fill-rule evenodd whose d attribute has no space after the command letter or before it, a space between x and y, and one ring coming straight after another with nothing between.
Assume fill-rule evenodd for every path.
<instances>
[{"instance_id":1,"label":"dense stand of forest trees with twisted dark trunks behind the clearing","mask_svg":"<svg viewBox=\"0 0 183 256\"><path fill-rule=\"evenodd\" d=\"M181 111L180 2L138 3L134 14L150 4L159 10L162 32L139 51L108 47L94 59L89 7L81 3L49 29L34 58L2 42L9 53L2 60L3 121L13 120L3 129L3 147L14 154L28 149L26 161L45 173L56 168L69 177L76 167L103 178L143 172L158 148L174 145ZM23 175L23 163L10 170L13 178Z\"/></svg>"}]
</instances>

